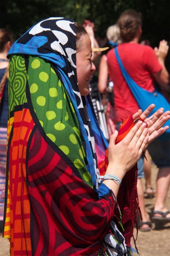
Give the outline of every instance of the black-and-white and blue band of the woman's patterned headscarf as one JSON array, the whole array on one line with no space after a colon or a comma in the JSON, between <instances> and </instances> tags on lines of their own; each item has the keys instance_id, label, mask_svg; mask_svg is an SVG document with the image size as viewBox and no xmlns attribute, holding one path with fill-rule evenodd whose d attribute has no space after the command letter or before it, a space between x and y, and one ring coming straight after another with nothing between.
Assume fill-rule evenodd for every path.
<instances>
[{"instance_id":1,"label":"black-and-white and blue band of the woman's patterned headscarf","mask_svg":"<svg viewBox=\"0 0 170 256\"><path fill-rule=\"evenodd\" d=\"M85 100L82 102L77 85L75 36L74 21L63 18L49 18L37 23L19 38L11 47L8 55L11 53L22 53L38 56L49 61L54 66L54 70L63 82L75 110L80 126L80 133L82 133L83 147L87 150L86 165L88 172L91 172L93 184L96 185L94 160L91 154L91 143L89 143L91 134L88 131L86 116L83 113L83 103L85 104ZM41 73L41 75L45 77L44 73ZM95 129L99 130L98 125L95 125ZM108 143L100 132L98 140L101 140L101 137L105 142L106 148Z\"/></svg>"}]
</instances>

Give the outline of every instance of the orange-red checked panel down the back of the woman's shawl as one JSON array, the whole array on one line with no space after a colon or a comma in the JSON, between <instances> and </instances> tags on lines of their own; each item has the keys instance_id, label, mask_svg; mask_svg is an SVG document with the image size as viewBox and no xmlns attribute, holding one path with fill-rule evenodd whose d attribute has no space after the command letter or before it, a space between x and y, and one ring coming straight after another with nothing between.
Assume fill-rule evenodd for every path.
<instances>
[{"instance_id":1,"label":"orange-red checked panel down the back of the woman's shawl","mask_svg":"<svg viewBox=\"0 0 170 256\"><path fill-rule=\"evenodd\" d=\"M28 109L14 112L14 119L13 131L10 128L12 136L9 137L9 140L11 139L9 148L11 161L8 166L10 183L8 182L4 237L11 240L12 255L20 255L17 254L20 251L25 252L24 255L31 255L30 201L26 186L26 149L31 131L34 128L34 122Z\"/></svg>"}]
</instances>

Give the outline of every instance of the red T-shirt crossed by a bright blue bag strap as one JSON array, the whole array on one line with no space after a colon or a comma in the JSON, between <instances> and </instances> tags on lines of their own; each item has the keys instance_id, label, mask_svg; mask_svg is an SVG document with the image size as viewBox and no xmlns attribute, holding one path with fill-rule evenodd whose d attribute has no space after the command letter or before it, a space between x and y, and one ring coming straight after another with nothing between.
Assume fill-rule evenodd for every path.
<instances>
[{"instance_id":1,"label":"red T-shirt crossed by a bright blue bag strap","mask_svg":"<svg viewBox=\"0 0 170 256\"><path fill-rule=\"evenodd\" d=\"M149 46L132 42L119 44L118 52L131 78L140 87L152 92L154 90L152 74L161 70L161 65L157 63L153 49ZM114 49L108 52L108 67L111 70L111 76L114 81L116 120L121 122L121 119L126 119L127 116L138 111L139 106L122 76Z\"/></svg>"}]
</instances>

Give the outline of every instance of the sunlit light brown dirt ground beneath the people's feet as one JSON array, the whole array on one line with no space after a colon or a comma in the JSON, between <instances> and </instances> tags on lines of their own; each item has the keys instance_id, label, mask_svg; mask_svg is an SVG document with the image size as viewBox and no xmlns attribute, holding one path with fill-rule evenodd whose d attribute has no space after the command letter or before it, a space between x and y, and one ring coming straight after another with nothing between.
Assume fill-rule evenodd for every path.
<instances>
[{"instance_id":1,"label":"sunlit light brown dirt ground beneath the people's feet","mask_svg":"<svg viewBox=\"0 0 170 256\"><path fill-rule=\"evenodd\" d=\"M156 175L157 168L152 165L152 185L155 188L156 185ZM143 180L144 183L144 180ZM147 212L152 217L152 211L154 207L155 198L145 199L145 206ZM167 207L170 209L170 189L167 197ZM136 234L136 229L134 229L134 234ZM135 236L136 237L136 236ZM150 232L141 232L139 230L136 245L138 247L140 256L168 256L169 251L169 241L170 241L170 223L160 225L153 224L152 230ZM132 242L132 247L134 243ZM0 235L0 256L9 255L9 243L8 239L2 238ZM137 253L133 253L137 256ZM63 255L67 256L67 255Z\"/></svg>"}]
</instances>

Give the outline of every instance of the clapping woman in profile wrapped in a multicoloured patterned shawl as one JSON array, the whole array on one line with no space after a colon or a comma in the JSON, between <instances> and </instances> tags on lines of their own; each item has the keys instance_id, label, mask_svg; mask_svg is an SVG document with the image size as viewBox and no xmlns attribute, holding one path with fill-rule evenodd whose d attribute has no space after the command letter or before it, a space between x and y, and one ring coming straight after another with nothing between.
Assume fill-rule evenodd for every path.
<instances>
[{"instance_id":1,"label":"clapping woman in profile wrapped in a multicoloured patterned shawl","mask_svg":"<svg viewBox=\"0 0 170 256\"><path fill-rule=\"evenodd\" d=\"M135 163L148 141L164 132L159 127L167 117L157 121L163 111L156 112L148 122L149 136L146 120L134 125L133 119L139 114L145 119L150 105L122 124L118 139L127 136L117 145L115 131L106 150L89 96L91 55L85 29L61 17L37 23L8 52L3 236L10 239L11 255L131 253L138 212ZM112 180L100 183L105 171Z\"/></svg>"}]
</instances>

